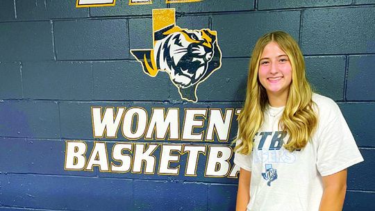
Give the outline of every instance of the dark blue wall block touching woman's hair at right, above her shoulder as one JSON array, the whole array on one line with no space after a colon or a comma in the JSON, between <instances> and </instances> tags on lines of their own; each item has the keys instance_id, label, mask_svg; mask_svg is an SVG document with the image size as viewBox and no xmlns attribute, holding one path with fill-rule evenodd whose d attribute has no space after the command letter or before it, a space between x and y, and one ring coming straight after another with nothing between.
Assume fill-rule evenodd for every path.
<instances>
[{"instance_id":1,"label":"dark blue wall block touching woman's hair at right, above her shoulder","mask_svg":"<svg viewBox=\"0 0 375 211\"><path fill-rule=\"evenodd\" d=\"M314 90L335 101L344 97L344 56L306 57L306 77Z\"/></svg>"}]
</instances>

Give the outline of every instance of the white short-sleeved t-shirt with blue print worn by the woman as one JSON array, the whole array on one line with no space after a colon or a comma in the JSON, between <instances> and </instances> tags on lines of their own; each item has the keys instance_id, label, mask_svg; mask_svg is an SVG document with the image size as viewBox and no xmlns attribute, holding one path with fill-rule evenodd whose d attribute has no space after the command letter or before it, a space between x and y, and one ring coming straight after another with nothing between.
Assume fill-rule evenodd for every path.
<instances>
[{"instance_id":1,"label":"white short-sleeved t-shirt with blue print worn by the woman","mask_svg":"<svg viewBox=\"0 0 375 211\"><path fill-rule=\"evenodd\" d=\"M278 120L284 108L268 105L252 153L235 153L235 164L251 171L248 211L317 211L322 176L363 161L338 105L319 94L313 94L313 101L318 125L305 148L290 153L283 147L288 135L278 131Z\"/></svg>"}]
</instances>

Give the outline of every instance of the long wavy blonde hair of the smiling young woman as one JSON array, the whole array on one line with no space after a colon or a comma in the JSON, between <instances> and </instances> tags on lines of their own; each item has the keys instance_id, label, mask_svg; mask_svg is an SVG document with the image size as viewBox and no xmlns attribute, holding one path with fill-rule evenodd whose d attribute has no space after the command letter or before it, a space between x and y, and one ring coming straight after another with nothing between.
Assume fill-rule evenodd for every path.
<instances>
[{"instance_id":1,"label":"long wavy blonde hair of the smiling young woman","mask_svg":"<svg viewBox=\"0 0 375 211\"><path fill-rule=\"evenodd\" d=\"M256 42L251 56L247 93L244 108L238 117L239 133L235 141L240 140L235 151L249 154L253 149L253 139L263 124L263 112L268 97L265 88L258 79L260 56L269 42L276 42L289 57L292 65L292 83L283 115L278 122L279 128L289 135L288 143L283 146L289 151L302 149L317 127L317 115L313 110L310 84L305 76L305 62L297 42L283 31L267 33Z\"/></svg>"}]
</instances>

